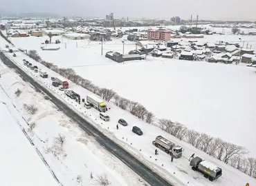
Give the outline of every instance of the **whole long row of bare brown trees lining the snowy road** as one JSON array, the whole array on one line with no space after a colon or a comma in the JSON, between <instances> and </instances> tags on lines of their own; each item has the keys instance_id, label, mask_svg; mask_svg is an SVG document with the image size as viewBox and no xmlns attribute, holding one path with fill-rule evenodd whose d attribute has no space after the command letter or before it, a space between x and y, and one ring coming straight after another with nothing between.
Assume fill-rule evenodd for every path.
<instances>
[{"instance_id":1,"label":"whole long row of bare brown trees lining the snowy road","mask_svg":"<svg viewBox=\"0 0 256 186\"><path fill-rule=\"evenodd\" d=\"M138 102L130 101L125 99L122 96L119 96L113 90L109 90L106 87L98 87L94 85L91 81L83 79L82 76L75 73L72 68L58 68L57 65L53 63L48 63L42 61L41 57L36 50L28 51L28 55L39 61L47 68L57 72L58 74L64 76L66 79L73 81L77 85L81 85L86 90L101 96L102 99L106 101L111 101L122 110L127 110L134 116L142 119L147 123L154 122L154 114L149 112L143 105ZM169 119L160 119L158 126L162 130L176 136L180 140L190 143L194 147L201 149L203 152L218 158L224 163L232 165L241 172L244 172L250 176L256 177L256 159L255 158L246 158L244 155L248 154L247 150L244 147L239 145L234 145L226 141L222 141L221 138L214 138L205 133L196 132L185 127L179 122L173 122Z\"/></svg>"}]
</instances>

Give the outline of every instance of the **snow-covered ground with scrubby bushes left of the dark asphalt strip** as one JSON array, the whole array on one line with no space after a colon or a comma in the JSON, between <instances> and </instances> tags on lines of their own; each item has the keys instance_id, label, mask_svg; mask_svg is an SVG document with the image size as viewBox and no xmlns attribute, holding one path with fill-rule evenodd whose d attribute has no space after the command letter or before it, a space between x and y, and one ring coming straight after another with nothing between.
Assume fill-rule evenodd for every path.
<instances>
[{"instance_id":1,"label":"snow-covered ground with scrubby bushes left of the dark asphalt strip","mask_svg":"<svg viewBox=\"0 0 256 186\"><path fill-rule=\"evenodd\" d=\"M6 175L6 179L1 178L1 185L17 185L15 181L19 181L19 185L21 183L21 185L57 185L51 173L55 174L61 185L97 185L98 176L104 175L107 176L111 185L143 185L138 176L126 165L106 150L101 149L93 138L87 136L78 125L46 100L44 95L24 83L1 61L0 72L0 85L3 88L1 89L0 108L3 107L2 103L6 103L10 112L2 116L6 112L1 110L1 121L4 121L1 124L1 133L5 133L1 136L10 137L10 139L6 137L2 140L4 143L1 145L4 144L5 148L1 149L7 151L11 148L10 151L14 152L20 149L17 153L19 158L11 156L12 159L8 159L9 157L4 156L6 154L1 153L1 160L3 160L1 165L6 167L2 168L1 175ZM17 126L12 126L15 125L12 117ZM3 127L6 127L7 123L9 128L4 130ZM13 127L11 131L10 127ZM30 144L27 139L24 140L26 137L22 136L24 134L21 129L28 134L28 138L31 139L38 152L35 149L33 152L33 149L23 145L24 143L27 146ZM15 141L19 141L19 147L15 145ZM37 153L44 158L51 173L47 172L47 166L39 159ZM11 152L8 156L10 155ZM39 161L42 161L43 165ZM34 169L33 172L30 169ZM21 176L17 177L15 172ZM15 179L11 176L15 176ZM10 178L13 184L9 182Z\"/></svg>"}]
</instances>

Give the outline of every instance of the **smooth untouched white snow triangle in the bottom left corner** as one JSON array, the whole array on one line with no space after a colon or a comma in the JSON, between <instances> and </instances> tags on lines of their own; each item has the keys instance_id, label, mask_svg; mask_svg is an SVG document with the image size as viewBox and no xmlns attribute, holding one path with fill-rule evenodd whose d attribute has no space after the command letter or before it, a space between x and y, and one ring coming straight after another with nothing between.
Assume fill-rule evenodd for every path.
<instances>
[{"instance_id":1,"label":"smooth untouched white snow triangle in the bottom left corner","mask_svg":"<svg viewBox=\"0 0 256 186\"><path fill-rule=\"evenodd\" d=\"M21 131L20 118L13 115L14 110L0 87L0 185L57 186L57 181Z\"/></svg>"}]
</instances>

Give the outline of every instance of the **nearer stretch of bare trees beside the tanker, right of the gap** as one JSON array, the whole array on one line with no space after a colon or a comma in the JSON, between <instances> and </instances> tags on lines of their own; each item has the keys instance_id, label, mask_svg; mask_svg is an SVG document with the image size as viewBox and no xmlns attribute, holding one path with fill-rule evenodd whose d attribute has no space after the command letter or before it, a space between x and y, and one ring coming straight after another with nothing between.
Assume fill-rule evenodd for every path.
<instances>
[{"instance_id":1,"label":"nearer stretch of bare trees beside the tanker, right of the gap","mask_svg":"<svg viewBox=\"0 0 256 186\"><path fill-rule=\"evenodd\" d=\"M228 143L221 138L189 130L181 123L173 122L170 119L160 119L158 124L161 130L256 178L256 158L246 157L245 155L248 154L246 148Z\"/></svg>"}]
</instances>

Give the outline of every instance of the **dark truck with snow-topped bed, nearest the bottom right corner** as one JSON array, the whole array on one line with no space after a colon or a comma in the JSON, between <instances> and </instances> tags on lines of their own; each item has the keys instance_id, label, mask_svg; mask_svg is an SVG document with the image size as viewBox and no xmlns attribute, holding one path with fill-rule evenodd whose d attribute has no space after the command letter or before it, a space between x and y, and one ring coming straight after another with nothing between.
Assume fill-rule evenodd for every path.
<instances>
[{"instance_id":1,"label":"dark truck with snow-topped bed, nearest the bottom right corner","mask_svg":"<svg viewBox=\"0 0 256 186\"><path fill-rule=\"evenodd\" d=\"M222 169L220 167L217 167L209 161L202 160L199 156L192 158L190 166L192 166L194 171L203 173L203 176L210 181L216 180L222 175Z\"/></svg>"}]
</instances>

